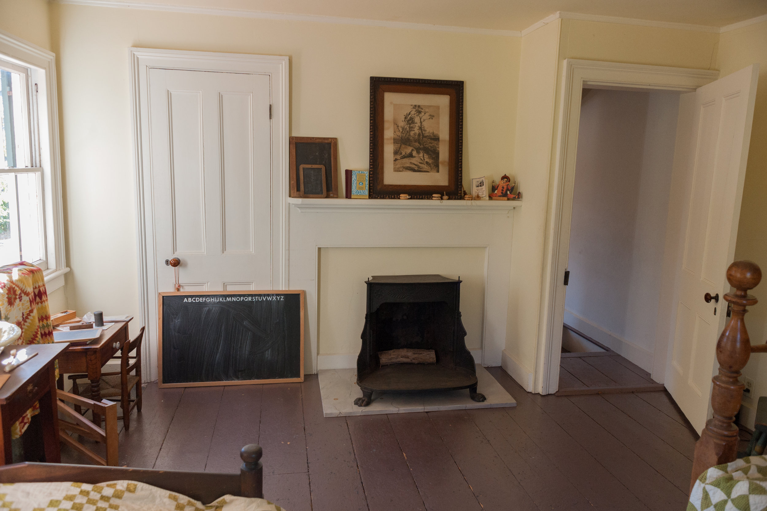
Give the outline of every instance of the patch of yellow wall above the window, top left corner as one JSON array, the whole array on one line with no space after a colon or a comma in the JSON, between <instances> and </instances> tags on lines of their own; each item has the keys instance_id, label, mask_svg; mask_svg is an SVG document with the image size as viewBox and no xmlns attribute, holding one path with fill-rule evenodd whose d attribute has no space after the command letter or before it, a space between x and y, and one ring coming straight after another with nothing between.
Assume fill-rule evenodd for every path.
<instances>
[{"instance_id":1,"label":"patch of yellow wall above the window, top left corner","mask_svg":"<svg viewBox=\"0 0 767 511\"><path fill-rule=\"evenodd\" d=\"M48 0L0 0L0 30L50 50Z\"/></svg>"}]
</instances>

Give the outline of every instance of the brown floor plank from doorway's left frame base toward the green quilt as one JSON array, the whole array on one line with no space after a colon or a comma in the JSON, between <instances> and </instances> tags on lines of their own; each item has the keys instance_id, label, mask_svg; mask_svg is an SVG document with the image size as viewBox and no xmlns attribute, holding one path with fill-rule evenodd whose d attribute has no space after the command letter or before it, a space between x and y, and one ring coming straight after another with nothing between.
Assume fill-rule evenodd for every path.
<instances>
[{"instance_id":1,"label":"brown floor plank from doorway's left frame base toward the green quilt","mask_svg":"<svg viewBox=\"0 0 767 511\"><path fill-rule=\"evenodd\" d=\"M684 508L686 492L674 486L620 440L588 417L570 401L574 398L562 399L540 394L530 396L645 506L656 511Z\"/></svg>"}]
</instances>

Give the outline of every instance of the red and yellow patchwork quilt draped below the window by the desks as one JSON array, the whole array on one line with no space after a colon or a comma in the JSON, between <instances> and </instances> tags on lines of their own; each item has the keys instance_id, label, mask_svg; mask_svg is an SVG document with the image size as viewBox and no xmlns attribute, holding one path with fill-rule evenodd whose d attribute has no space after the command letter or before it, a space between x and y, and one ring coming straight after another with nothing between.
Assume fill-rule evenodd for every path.
<instances>
[{"instance_id":1,"label":"red and yellow patchwork quilt draped below the window by the desks","mask_svg":"<svg viewBox=\"0 0 767 511\"><path fill-rule=\"evenodd\" d=\"M41 345L53 342L48 292L45 291L43 271L21 261L0 266L0 320L21 328L20 345ZM58 364L56 369L58 377ZM11 437L18 438L29 426L29 420L40 412L37 403L16 421Z\"/></svg>"}]
</instances>

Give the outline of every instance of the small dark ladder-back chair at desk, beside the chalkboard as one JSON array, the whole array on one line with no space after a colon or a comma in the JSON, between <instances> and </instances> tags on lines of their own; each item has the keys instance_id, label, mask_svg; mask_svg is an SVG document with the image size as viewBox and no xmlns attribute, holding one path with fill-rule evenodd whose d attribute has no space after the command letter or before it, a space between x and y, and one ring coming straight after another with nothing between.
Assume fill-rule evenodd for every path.
<instances>
[{"instance_id":1,"label":"small dark ladder-back chair at desk, beside the chalkboard","mask_svg":"<svg viewBox=\"0 0 767 511\"><path fill-rule=\"evenodd\" d=\"M126 430L130 429L130 412L133 408L141 411L141 343L143 341L144 327L141 327L139 335L133 341L123 341L120 347L120 356L113 357L113 360L120 361L120 371L101 373L99 381L101 388L101 397L110 401L120 401L120 407L123 409L123 426ZM132 351L135 355L130 355ZM130 363L133 361L133 364ZM133 374L130 374L133 372ZM70 374L72 380L72 393L78 396L91 397L91 384L87 381L87 374ZM78 380L86 379L84 384L77 383ZM130 391L136 389L136 397L130 397Z\"/></svg>"}]
</instances>

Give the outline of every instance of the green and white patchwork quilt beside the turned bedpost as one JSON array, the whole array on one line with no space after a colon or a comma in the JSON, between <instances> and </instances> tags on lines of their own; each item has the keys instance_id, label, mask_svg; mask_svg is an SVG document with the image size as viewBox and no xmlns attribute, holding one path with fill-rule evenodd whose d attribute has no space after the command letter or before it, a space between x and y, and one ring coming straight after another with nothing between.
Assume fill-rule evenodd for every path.
<instances>
[{"instance_id":1,"label":"green and white patchwork quilt beside the turned bedpost","mask_svg":"<svg viewBox=\"0 0 767 511\"><path fill-rule=\"evenodd\" d=\"M700 474L687 511L767 509L767 456L751 456L712 466Z\"/></svg>"}]
</instances>

